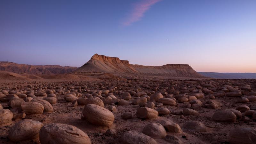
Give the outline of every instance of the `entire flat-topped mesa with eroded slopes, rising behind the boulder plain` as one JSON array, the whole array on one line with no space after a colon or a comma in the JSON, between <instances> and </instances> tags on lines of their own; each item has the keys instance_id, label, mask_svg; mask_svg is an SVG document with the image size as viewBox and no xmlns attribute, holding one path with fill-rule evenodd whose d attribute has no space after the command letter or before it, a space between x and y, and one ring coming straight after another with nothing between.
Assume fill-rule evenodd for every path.
<instances>
[{"instance_id":1,"label":"entire flat-topped mesa with eroded slopes, rising behind the boulder plain","mask_svg":"<svg viewBox=\"0 0 256 144\"><path fill-rule=\"evenodd\" d=\"M75 72L105 72L121 74L146 74L158 76L204 77L189 65L167 64L163 66L142 66L130 64L127 60L94 54L87 63Z\"/></svg>"}]
</instances>

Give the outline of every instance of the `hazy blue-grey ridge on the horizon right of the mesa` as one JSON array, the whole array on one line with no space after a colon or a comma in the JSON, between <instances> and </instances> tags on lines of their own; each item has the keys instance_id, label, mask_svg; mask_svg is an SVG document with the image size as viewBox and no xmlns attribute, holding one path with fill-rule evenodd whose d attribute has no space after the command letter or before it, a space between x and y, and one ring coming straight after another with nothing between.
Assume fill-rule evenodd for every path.
<instances>
[{"instance_id":1,"label":"hazy blue-grey ridge on the horizon right of the mesa","mask_svg":"<svg viewBox=\"0 0 256 144\"><path fill-rule=\"evenodd\" d=\"M256 79L256 73L215 73L198 72L199 74L217 79Z\"/></svg>"}]
</instances>

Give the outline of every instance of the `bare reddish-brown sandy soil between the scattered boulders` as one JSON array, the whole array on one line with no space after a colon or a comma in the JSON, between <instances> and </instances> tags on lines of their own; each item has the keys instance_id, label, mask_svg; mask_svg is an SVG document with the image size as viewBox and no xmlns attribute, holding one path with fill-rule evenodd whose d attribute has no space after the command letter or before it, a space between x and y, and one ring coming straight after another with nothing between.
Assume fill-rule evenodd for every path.
<instances>
[{"instance_id":1,"label":"bare reddish-brown sandy soil between the scattered boulders","mask_svg":"<svg viewBox=\"0 0 256 144\"><path fill-rule=\"evenodd\" d=\"M108 77L105 76L105 77ZM123 76L124 77L124 76ZM126 76L127 79L129 76ZM166 77L165 77L166 78ZM170 77L169 77L170 78ZM141 92L149 92L149 91L155 91L160 92L160 89L164 88L166 91L168 89L171 89L171 87L174 86L174 89L176 91L179 91L181 93L181 89L183 87L190 87L191 85L197 85L202 86L205 83L212 83L217 84L215 88L208 88L211 89L214 94L219 91L219 88L221 86L224 86L228 83L232 84L250 84L251 91L256 91L256 81L255 80L165 80L164 77L157 77L157 79L153 80L154 78L149 77L147 79L151 80L142 80L134 76L133 78L130 78L131 80L127 81L118 81L114 77L114 79L105 79L105 80L99 80L97 81L91 81L92 79L89 79L89 81L69 81L69 80L56 80L56 79L48 79L48 80L41 80L38 79L37 81L13 81L13 80L1 80L0 81L0 89L5 90L11 90L13 87L20 87L19 89L25 89L28 84L33 85L34 87L44 85L45 87L49 87L50 85L55 86L87 86L86 90L87 92L89 90L104 90L108 89L108 87L116 86L116 91L113 92L113 94L120 99L120 94L118 92L125 92L126 90L132 90L136 91L138 87L141 88ZM167 78L166 78L167 79ZM94 79L95 80L95 79ZM150 85L150 88L146 88L143 85ZM233 85L234 86L234 85ZM153 87L157 87L157 90L152 90ZM240 87L240 85L238 85ZM36 91L36 89L34 89ZM56 89L57 90L57 89ZM80 92L84 96L87 92ZM242 91L246 93L246 91ZM249 92L249 91L248 91ZM192 92L189 92L192 93ZM168 106L164 105L165 108L168 108L171 112L171 114L168 115L162 115L158 118L153 119L140 119L136 116L136 110L139 105L115 105L116 111L113 112L115 116L115 120L112 126L110 127L102 127L102 126L95 126L90 124L88 121L81 118L82 111L84 106L78 105L77 107L73 107L71 102L67 102L64 100L63 95L60 93L55 92L57 95L57 104L53 105L53 112L52 113L43 113L42 115L27 115L25 118L42 121L43 119L47 118L46 121L44 121L44 124L50 124L50 123L63 123L63 124L70 124L73 126L76 126L77 128L81 129L83 132L85 132L89 138L91 139L91 142L94 144L108 144L108 143L120 143L119 138L122 137L124 132L129 130L135 130L138 132L142 132L142 129L149 123L156 122L158 120L169 120L174 123L177 123L182 128L182 133L171 133L167 132L167 135L175 135L185 144L220 144L220 143L229 143L229 132L232 131L236 127L255 127L256 122L255 120L252 120L250 117L250 120L236 120L234 123L224 123L224 122L215 122L212 120L212 115L216 111L219 111L220 109L236 109L237 106L241 105L241 103L238 103L238 99L240 97L216 97L216 100L219 100L223 106L218 109L210 109L205 108L207 105L207 102L210 100L209 96L212 94L204 94L204 98L199 99L202 101L202 107L196 109L197 112L200 113L200 116L183 116L182 113L179 113L179 111L182 111L183 108L188 107L188 102L185 103L179 103L177 101L176 106ZM243 94L243 96L245 96ZM132 96L132 100L134 100L135 97ZM1 102L3 107L5 109L10 109L13 114L18 113L18 108L10 108L8 107L6 102ZM156 104L157 105L157 104ZM256 107L255 101L250 101L247 103L244 103L244 105L250 107L251 109ZM108 108L108 104L104 104L105 108ZM157 108L156 106L155 108ZM160 106L159 106L160 107ZM122 119L122 114L124 112L131 112L132 113L132 119L124 120ZM20 120L12 121L12 124L1 126L0 127L0 143L14 143L8 139L8 131L10 128L16 124ZM187 131L183 129L183 125L188 121L199 121L203 123L207 127L207 132L192 132ZM104 134L109 128L114 128L117 132L117 137L111 137L106 134ZM157 143L164 144L168 143L164 139L155 139ZM23 141L19 143L40 143L39 140L28 140Z\"/></svg>"}]
</instances>

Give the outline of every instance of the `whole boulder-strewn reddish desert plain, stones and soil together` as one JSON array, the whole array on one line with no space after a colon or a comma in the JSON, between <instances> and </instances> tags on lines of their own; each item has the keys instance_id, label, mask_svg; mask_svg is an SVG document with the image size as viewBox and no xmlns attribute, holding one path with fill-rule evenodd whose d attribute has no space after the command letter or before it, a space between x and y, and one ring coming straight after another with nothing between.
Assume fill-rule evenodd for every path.
<instances>
[{"instance_id":1,"label":"whole boulder-strewn reddish desert plain, stones and soil together","mask_svg":"<svg viewBox=\"0 0 256 144\"><path fill-rule=\"evenodd\" d=\"M256 80L1 81L0 143L253 144Z\"/></svg>"}]
</instances>

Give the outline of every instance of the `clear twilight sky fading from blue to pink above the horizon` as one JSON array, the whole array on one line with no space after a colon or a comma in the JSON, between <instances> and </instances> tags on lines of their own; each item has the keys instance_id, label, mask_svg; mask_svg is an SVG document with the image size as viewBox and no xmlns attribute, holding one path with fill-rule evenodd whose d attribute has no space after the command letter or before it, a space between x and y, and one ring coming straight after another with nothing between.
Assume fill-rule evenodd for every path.
<instances>
[{"instance_id":1,"label":"clear twilight sky fading from blue to pink above the horizon","mask_svg":"<svg viewBox=\"0 0 256 144\"><path fill-rule=\"evenodd\" d=\"M0 61L256 73L256 0L1 0Z\"/></svg>"}]
</instances>

